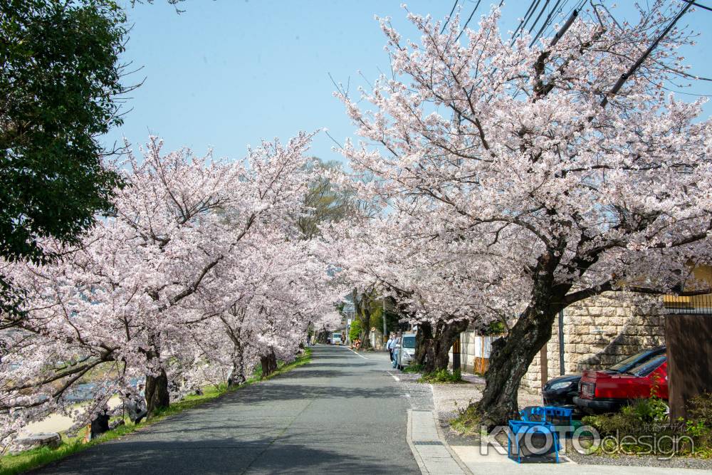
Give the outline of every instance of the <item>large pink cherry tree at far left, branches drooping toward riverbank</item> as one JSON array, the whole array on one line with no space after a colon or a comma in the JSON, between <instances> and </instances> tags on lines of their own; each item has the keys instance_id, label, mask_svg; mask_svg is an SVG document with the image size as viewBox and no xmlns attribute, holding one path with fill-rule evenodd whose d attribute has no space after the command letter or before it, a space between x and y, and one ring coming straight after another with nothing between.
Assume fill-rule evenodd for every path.
<instances>
[{"instance_id":1,"label":"large pink cherry tree at far left, branches drooping toward riverbank","mask_svg":"<svg viewBox=\"0 0 712 475\"><path fill-rule=\"evenodd\" d=\"M307 189L310 137L263 142L237 162L187 149L164 155L152 137L143 160L130 154L116 165L126 186L81 246L43 243L61 258L44 268L2 263L28 296L19 316L2 315L0 438L51 412L86 424L112 395L135 392L143 376L149 411L167 406L171 361L185 366L181 377L205 366L188 336L211 315L186 304L259 244L244 244L253 231L276 229L284 239L285 220ZM93 402L74 409L70 396L85 379L95 382Z\"/></svg>"}]
</instances>

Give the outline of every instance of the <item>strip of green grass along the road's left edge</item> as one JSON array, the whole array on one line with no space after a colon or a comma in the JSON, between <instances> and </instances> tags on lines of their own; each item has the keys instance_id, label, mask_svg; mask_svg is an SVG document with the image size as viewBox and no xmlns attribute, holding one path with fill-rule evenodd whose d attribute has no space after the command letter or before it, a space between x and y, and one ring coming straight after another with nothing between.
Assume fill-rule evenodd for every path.
<instances>
[{"instance_id":1,"label":"strip of green grass along the road's left edge","mask_svg":"<svg viewBox=\"0 0 712 475\"><path fill-rule=\"evenodd\" d=\"M7 454L0 456L0 475L14 475L21 474L25 471L31 469L37 469L46 464L50 464L53 461L58 461L64 459L71 454L75 454L80 451L84 451L90 447L94 447L98 444L103 444L113 439L118 439L127 434L135 432L137 429L142 427L148 427L155 422L161 421L167 417L174 414L179 414L180 412L193 409L206 402L216 400L217 398L226 395L229 392L235 392L248 385L253 385L255 383L270 380L271 378L281 375L285 372L293 370L296 367L306 365L311 360L311 349L305 348L303 355L299 355L293 362L285 363L278 362L278 368L271 375L261 378L261 368L258 375L250 377L244 385L229 388L225 383L220 385L209 385L202 388L201 395L189 395L183 400L174 402L169 407L161 409L155 416L151 419L145 420L140 424L132 424L129 419L125 418L125 425L120 425L116 429L109 432L101 434L96 439L90 440L89 442L84 442L84 437L86 436L87 429L81 429L75 437L67 437L66 434L61 434L62 444L56 449L50 449L48 447L41 447L39 449L32 449L28 451L23 451L17 455Z\"/></svg>"}]
</instances>

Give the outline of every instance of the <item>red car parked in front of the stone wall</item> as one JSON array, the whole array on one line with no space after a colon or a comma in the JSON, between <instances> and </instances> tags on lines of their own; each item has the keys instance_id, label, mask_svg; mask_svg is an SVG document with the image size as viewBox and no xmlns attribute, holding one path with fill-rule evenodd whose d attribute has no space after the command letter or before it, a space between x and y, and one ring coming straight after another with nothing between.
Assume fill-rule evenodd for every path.
<instances>
[{"instance_id":1,"label":"red car parked in front of the stone wall","mask_svg":"<svg viewBox=\"0 0 712 475\"><path fill-rule=\"evenodd\" d=\"M616 412L632 400L650 397L655 386L656 395L667 400L667 357L664 354L618 374L584 371L574 404L590 414Z\"/></svg>"}]
</instances>

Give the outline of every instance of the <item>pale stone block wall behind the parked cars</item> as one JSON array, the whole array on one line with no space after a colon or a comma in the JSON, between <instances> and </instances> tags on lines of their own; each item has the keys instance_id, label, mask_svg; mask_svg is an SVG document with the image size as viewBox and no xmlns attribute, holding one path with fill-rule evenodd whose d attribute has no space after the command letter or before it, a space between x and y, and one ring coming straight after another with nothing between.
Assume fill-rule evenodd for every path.
<instances>
[{"instance_id":1,"label":"pale stone block wall behind the parked cars","mask_svg":"<svg viewBox=\"0 0 712 475\"><path fill-rule=\"evenodd\" d=\"M564 310L564 372L608 367L644 348L664 344L664 320L657 299L608 292ZM559 323L555 320L547 345L548 378L559 372ZM522 387L540 392L540 357L522 378Z\"/></svg>"}]
</instances>

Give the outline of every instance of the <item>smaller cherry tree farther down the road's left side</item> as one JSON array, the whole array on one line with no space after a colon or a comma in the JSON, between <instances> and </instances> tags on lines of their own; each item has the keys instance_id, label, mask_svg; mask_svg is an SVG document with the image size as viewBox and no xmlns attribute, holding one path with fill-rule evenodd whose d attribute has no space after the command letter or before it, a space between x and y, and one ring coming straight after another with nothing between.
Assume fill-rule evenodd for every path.
<instances>
[{"instance_id":1,"label":"smaller cherry tree farther down the road's left side","mask_svg":"<svg viewBox=\"0 0 712 475\"><path fill-rule=\"evenodd\" d=\"M278 230L251 235L243 251L197 294L200 340L220 334L223 343L205 357L229 365L229 383L239 385L261 363L262 375L276 370L277 360L292 360L305 343L310 323L335 325L333 306L342 291L327 272L325 243L286 239ZM216 306L219 302L219 306Z\"/></svg>"}]
</instances>

